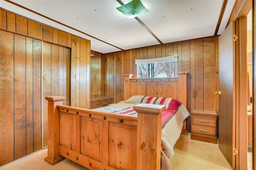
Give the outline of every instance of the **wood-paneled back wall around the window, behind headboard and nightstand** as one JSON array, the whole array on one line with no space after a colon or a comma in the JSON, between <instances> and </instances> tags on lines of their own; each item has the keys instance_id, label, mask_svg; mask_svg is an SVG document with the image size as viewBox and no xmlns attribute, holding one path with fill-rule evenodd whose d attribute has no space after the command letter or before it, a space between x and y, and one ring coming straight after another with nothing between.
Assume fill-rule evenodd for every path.
<instances>
[{"instance_id":1,"label":"wood-paneled back wall around the window, behind headboard and nightstand","mask_svg":"<svg viewBox=\"0 0 256 170\"><path fill-rule=\"evenodd\" d=\"M152 59L178 54L178 71L188 71L188 111L218 112L218 37L205 37L104 54L104 96L114 103L123 100L123 74L137 77L135 59ZM190 131L190 121L188 121Z\"/></svg>"}]
</instances>

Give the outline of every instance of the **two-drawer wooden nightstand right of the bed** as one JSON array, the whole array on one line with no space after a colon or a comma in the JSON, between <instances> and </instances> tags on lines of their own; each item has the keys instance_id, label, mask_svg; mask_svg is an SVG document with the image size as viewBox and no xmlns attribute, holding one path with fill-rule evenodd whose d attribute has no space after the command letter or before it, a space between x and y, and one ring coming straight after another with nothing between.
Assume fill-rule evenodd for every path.
<instances>
[{"instance_id":1,"label":"two-drawer wooden nightstand right of the bed","mask_svg":"<svg viewBox=\"0 0 256 170\"><path fill-rule=\"evenodd\" d=\"M218 115L216 111L192 110L190 139L217 143L217 123Z\"/></svg>"}]
</instances>

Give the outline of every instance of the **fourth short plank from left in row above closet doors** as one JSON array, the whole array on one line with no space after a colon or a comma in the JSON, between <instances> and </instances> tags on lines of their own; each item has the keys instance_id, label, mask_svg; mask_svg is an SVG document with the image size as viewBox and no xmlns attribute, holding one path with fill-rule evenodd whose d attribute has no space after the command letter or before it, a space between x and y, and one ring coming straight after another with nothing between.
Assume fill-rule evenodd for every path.
<instances>
[{"instance_id":1,"label":"fourth short plank from left in row above closet doors","mask_svg":"<svg viewBox=\"0 0 256 170\"><path fill-rule=\"evenodd\" d=\"M28 20L28 36L36 39L43 39L43 25Z\"/></svg>"}]
</instances>

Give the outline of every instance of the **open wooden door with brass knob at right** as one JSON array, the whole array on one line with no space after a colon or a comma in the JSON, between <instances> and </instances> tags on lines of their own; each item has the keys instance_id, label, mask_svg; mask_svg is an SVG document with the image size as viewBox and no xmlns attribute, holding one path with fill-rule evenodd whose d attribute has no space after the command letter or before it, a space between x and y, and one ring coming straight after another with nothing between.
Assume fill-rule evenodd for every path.
<instances>
[{"instance_id":1,"label":"open wooden door with brass knob at right","mask_svg":"<svg viewBox=\"0 0 256 170\"><path fill-rule=\"evenodd\" d=\"M235 60L234 21L219 37L219 80L220 80L220 110L218 114L219 148L232 166L236 168L236 60Z\"/></svg>"}]
</instances>

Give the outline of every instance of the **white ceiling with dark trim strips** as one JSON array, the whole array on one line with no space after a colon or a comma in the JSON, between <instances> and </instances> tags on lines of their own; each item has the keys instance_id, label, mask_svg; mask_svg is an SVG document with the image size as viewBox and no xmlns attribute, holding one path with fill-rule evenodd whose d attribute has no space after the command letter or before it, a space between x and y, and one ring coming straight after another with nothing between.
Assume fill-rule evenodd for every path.
<instances>
[{"instance_id":1,"label":"white ceiling with dark trim strips","mask_svg":"<svg viewBox=\"0 0 256 170\"><path fill-rule=\"evenodd\" d=\"M220 35L235 2L141 0L149 12L128 19L116 8L130 1L0 0L0 7L88 39L93 51L110 53Z\"/></svg>"}]
</instances>

